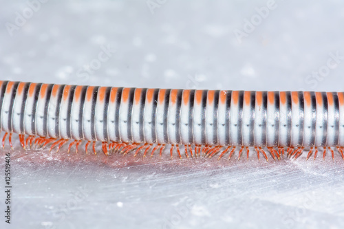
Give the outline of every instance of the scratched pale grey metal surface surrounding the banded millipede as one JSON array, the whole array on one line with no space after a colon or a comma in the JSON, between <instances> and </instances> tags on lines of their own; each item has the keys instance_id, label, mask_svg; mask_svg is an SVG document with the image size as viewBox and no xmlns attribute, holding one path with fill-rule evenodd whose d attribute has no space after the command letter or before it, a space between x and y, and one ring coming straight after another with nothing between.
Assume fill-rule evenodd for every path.
<instances>
[{"instance_id":1,"label":"scratched pale grey metal surface surrounding the banded millipede","mask_svg":"<svg viewBox=\"0 0 344 229\"><path fill-rule=\"evenodd\" d=\"M344 90L341 1L47 1L32 17L28 1L0 3L4 80ZM246 20L259 20L256 8L268 6L248 28ZM95 67L105 48L108 60ZM8 151L0 151L1 170ZM23 151L18 142L11 152L12 228L344 227L338 155L170 160ZM1 191L1 209L4 199Z\"/></svg>"}]
</instances>

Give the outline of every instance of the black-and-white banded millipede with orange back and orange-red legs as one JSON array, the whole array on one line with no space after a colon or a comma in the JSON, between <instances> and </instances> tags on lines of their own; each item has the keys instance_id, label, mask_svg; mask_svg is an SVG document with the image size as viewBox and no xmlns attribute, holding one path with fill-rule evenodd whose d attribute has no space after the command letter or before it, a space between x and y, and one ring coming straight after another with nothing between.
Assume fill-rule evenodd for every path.
<instances>
[{"instance_id":1,"label":"black-and-white banded millipede with orange back and orange-red legs","mask_svg":"<svg viewBox=\"0 0 344 229\"><path fill-rule=\"evenodd\" d=\"M344 93L94 87L0 81L2 146L268 160L344 160Z\"/></svg>"}]
</instances>

